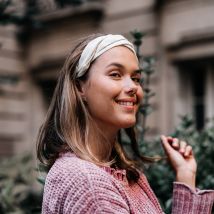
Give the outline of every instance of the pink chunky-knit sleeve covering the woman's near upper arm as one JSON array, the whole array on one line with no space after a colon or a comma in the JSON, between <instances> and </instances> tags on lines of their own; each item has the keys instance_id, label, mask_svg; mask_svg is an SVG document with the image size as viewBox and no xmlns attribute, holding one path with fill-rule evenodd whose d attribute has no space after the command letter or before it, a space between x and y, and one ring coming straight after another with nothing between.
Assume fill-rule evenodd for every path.
<instances>
[{"instance_id":1,"label":"pink chunky-knit sleeve covering the woman's near upper arm","mask_svg":"<svg viewBox=\"0 0 214 214\"><path fill-rule=\"evenodd\" d=\"M129 207L118 188L99 170L55 166L46 178L42 213L128 214Z\"/></svg>"}]
</instances>

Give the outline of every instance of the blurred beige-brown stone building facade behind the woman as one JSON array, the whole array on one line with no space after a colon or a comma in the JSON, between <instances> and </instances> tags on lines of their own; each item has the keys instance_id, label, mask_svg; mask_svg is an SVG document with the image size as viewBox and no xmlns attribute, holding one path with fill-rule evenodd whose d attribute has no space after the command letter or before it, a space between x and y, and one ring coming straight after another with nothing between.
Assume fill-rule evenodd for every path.
<instances>
[{"instance_id":1,"label":"blurred beige-brown stone building facade behind the woman","mask_svg":"<svg viewBox=\"0 0 214 214\"><path fill-rule=\"evenodd\" d=\"M214 1L108 0L88 1L57 9L40 4L38 20L20 44L17 28L0 27L0 155L35 151L38 129L66 54L80 37L103 32L146 33L144 56L157 58L152 88L155 112L150 134L169 134L179 115L193 114L198 129L214 116Z\"/></svg>"}]
</instances>

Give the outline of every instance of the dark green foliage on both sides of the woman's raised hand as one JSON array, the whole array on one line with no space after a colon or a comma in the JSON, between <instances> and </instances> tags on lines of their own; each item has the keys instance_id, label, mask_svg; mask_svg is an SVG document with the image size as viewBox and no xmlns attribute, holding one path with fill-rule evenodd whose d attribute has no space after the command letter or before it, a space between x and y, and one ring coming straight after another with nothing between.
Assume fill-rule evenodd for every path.
<instances>
[{"instance_id":1,"label":"dark green foliage on both sides of the woman's raised hand","mask_svg":"<svg viewBox=\"0 0 214 214\"><path fill-rule=\"evenodd\" d=\"M214 188L214 123L207 124L202 131L195 128L194 120L190 116L182 116L181 122L172 133L173 137L187 141L192 147L198 163L197 187L199 189ZM152 144L152 142L150 142ZM160 142L153 142L153 152L159 152ZM154 150L155 148L155 150ZM148 153L150 145L145 148ZM160 152L159 152L160 153ZM163 154L163 152L161 153ZM147 177L166 213L170 213L172 198L172 183L175 179L173 171L166 160L151 165L147 170Z\"/></svg>"}]
</instances>

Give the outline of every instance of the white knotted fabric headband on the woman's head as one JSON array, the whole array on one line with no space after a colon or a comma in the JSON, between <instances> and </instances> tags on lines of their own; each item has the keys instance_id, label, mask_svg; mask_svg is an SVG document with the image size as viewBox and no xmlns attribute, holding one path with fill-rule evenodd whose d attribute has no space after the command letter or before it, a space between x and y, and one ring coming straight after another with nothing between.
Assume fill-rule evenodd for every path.
<instances>
[{"instance_id":1,"label":"white knotted fabric headband on the woman's head","mask_svg":"<svg viewBox=\"0 0 214 214\"><path fill-rule=\"evenodd\" d=\"M80 56L75 71L76 77L78 78L83 76L90 67L90 64L101 54L113 47L121 45L129 48L136 55L133 44L121 35L108 34L105 36L99 36L90 41Z\"/></svg>"}]
</instances>

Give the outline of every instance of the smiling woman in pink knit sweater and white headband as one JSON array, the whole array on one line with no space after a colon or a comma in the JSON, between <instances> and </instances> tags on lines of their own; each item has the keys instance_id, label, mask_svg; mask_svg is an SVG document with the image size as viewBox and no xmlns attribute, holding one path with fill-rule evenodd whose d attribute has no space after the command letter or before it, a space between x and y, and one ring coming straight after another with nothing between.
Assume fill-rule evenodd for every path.
<instances>
[{"instance_id":1,"label":"smiling woman in pink knit sweater and white headband","mask_svg":"<svg viewBox=\"0 0 214 214\"><path fill-rule=\"evenodd\" d=\"M121 35L92 35L73 49L60 73L38 139L48 172L42 213L163 213L139 163L121 147L120 130L137 150L136 112L143 98L133 45ZM176 182L172 213L210 213L213 191L195 188L191 146L161 136Z\"/></svg>"}]
</instances>

